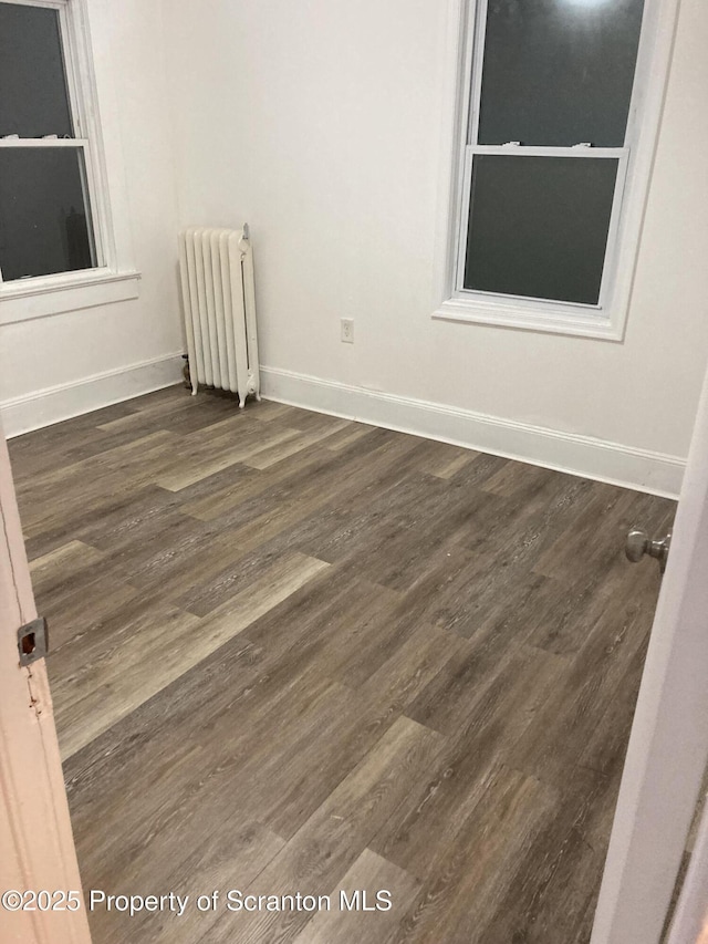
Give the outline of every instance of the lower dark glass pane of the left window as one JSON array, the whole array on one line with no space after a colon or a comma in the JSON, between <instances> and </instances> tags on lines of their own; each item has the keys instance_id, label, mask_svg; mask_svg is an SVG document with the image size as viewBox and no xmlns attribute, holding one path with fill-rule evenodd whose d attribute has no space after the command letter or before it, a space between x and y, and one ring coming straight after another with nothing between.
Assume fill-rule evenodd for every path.
<instances>
[{"instance_id":1,"label":"lower dark glass pane of the left window","mask_svg":"<svg viewBox=\"0 0 708 944\"><path fill-rule=\"evenodd\" d=\"M80 148L0 147L4 281L95 267L84 176Z\"/></svg>"}]
</instances>

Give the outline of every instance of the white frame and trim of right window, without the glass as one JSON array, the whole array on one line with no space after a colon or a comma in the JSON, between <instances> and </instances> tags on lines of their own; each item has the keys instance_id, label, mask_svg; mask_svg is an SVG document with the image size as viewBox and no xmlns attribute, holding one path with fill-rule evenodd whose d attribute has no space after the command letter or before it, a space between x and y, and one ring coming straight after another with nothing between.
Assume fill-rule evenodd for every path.
<instances>
[{"instance_id":1,"label":"white frame and trim of right window, without the glass","mask_svg":"<svg viewBox=\"0 0 708 944\"><path fill-rule=\"evenodd\" d=\"M639 236L664 101L678 0L645 0L625 145L601 147L524 147L479 145L479 101L488 0L450 0L448 61L455 63L454 106L447 115L447 153L452 168L444 186L446 218L438 230L438 307L435 319L467 321L531 331L624 340ZM448 81L448 87L450 85ZM601 294L597 305L530 299L462 288L469 188L475 154L615 158L613 203ZM445 152L444 152L445 153ZM523 159L520 157L519 159Z\"/></svg>"}]
</instances>

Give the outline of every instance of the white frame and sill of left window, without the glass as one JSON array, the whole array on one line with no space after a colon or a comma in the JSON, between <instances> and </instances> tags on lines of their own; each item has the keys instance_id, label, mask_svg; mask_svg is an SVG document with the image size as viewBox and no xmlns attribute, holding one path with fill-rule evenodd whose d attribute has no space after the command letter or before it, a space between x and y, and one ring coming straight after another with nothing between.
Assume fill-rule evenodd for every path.
<instances>
[{"instance_id":1,"label":"white frame and sill of left window, without the glass","mask_svg":"<svg viewBox=\"0 0 708 944\"><path fill-rule=\"evenodd\" d=\"M106 174L93 53L85 0L0 0L59 12L69 104L76 137L66 139L0 138L0 148L71 147L84 156L96 266L71 272L9 282L0 270L0 324L61 314L138 297L139 272L131 247L118 247ZM124 227L123 227L124 229ZM125 243L125 238L122 240Z\"/></svg>"}]
</instances>

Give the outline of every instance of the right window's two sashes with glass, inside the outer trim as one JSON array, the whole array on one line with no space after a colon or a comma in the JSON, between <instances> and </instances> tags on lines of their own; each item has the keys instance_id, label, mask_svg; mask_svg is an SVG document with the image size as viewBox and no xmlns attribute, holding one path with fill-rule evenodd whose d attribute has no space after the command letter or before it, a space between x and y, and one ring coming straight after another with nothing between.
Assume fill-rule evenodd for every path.
<instances>
[{"instance_id":1,"label":"right window's two sashes with glass, inside the outer trim","mask_svg":"<svg viewBox=\"0 0 708 944\"><path fill-rule=\"evenodd\" d=\"M480 0L458 299L585 315L607 305L643 9L643 0ZM584 178L582 194L571 178Z\"/></svg>"}]
</instances>

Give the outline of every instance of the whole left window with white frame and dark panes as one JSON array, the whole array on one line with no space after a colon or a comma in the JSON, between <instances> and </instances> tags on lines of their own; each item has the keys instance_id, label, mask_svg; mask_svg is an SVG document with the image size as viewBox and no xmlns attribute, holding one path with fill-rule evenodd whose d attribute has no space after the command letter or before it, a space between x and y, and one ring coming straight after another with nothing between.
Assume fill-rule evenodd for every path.
<instances>
[{"instance_id":1,"label":"whole left window with white frame and dark panes","mask_svg":"<svg viewBox=\"0 0 708 944\"><path fill-rule=\"evenodd\" d=\"M0 0L0 323L137 295L116 258L94 98L84 0Z\"/></svg>"}]
</instances>

